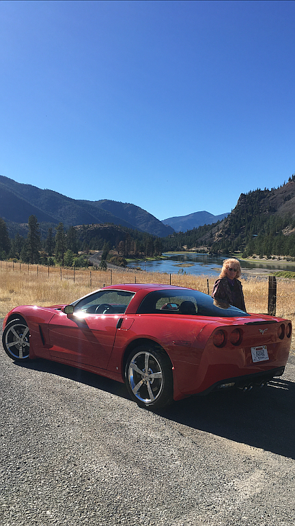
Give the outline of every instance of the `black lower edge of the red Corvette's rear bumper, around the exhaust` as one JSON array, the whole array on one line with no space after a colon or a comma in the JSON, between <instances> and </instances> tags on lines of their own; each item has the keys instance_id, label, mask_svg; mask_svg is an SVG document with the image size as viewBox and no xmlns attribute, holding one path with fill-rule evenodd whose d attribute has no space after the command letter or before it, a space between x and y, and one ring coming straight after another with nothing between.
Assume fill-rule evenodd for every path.
<instances>
[{"instance_id":1,"label":"black lower edge of the red Corvette's rear bumper, around the exhaust","mask_svg":"<svg viewBox=\"0 0 295 526\"><path fill-rule=\"evenodd\" d=\"M245 376L225 378L211 385L205 391L201 391L201 393L196 393L195 396L208 395L208 393L212 393L213 391L224 391L225 389L232 389L232 388L244 389L251 385L252 386L261 385L263 383L268 382L268 380L272 380L274 376L281 376L284 371L285 371L285 367L282 366L282 367L277 367L276 369L269 369L268 371L247 374ZM231 385L227 385L227 384L231 384Z\"/></svg>"}]
</instances>

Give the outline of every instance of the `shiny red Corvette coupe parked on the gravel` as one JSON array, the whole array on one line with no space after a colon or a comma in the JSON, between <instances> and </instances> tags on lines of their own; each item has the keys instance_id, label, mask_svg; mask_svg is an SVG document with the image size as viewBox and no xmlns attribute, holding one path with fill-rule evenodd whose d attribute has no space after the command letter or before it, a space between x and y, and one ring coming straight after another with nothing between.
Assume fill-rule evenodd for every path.
<instances>
[{"instance_id":1,"label":"shiny red Corvette coupe parked on the gravel","mask_svg":"<svg viewBox=\"0 0 295 526\"><path fill-rule=\"evenodd\" d=\"M70 305L20 306L3 324L13 360L46 358L125 382L140 406L283 374L289 320L169 285L111 285Z\"/></svg>"}]
</instances>

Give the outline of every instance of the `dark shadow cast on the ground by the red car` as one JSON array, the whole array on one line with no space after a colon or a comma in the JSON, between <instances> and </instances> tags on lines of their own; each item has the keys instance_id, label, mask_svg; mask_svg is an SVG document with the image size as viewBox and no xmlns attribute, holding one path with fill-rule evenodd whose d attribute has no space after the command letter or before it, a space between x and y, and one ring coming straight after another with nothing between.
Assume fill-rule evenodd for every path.
<instances>
[{"instance_id":1,"label":"dark shadow cast on the ground by the red car","mask_svg":"<svg viewBox=\"0 0 295 526\"><path fill-rule=\"evenodd\" d=\"M41 359L14 364L129 398L124 384L68 365ZM295 383L284 378L276 378L263 389L249 393L234 390L190 397L157 413L189 428L295 459Z\"/></svg>"}]
</instances>

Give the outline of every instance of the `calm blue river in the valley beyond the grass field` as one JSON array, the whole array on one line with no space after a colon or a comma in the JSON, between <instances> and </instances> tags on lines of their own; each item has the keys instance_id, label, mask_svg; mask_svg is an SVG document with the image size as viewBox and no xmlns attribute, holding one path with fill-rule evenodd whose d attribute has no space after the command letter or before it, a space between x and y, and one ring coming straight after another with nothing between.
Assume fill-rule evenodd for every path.
<instances>
[{"instance_id":1,"label":"calm blue river in the valley beyond the grass field","mask_svg":"<svg viewBox=\"0 0 295 526\"><path fill-rule=\"evenodd\" d=\"M167 272L167 274L206 274L206 276L219 276L223 260L229 256L209 256L208 254L198 254L197 252L188 252L186 254L173 253L163 254L165 259L158 261L137 261L129 263L130 268L141 268L147 272ZM249 261L240 261L242 269L271 269L290 270L295 272L294 265L276 265L272 260L262 263L257 259L257 263ZM243 275L243 274L242 274Z\"/></svg>"}]
</instances>

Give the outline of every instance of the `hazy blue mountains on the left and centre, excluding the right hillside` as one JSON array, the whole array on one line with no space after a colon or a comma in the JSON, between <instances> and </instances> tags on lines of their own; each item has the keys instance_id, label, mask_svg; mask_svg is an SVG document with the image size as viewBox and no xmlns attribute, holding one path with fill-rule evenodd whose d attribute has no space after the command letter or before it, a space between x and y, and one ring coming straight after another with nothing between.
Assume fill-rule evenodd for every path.
<instances>
[{"instance_id":1,"label":"hazy blue mountains on the left and centre, excluding the right hillside","mask_svg":"<svg viewBox=\"0 0 295 526\"><path fill-rule=\"evenodd\" d=\"M72 199L50 189L17 183L3 175L0 175L0 203L0 216L8 224L12 237L17 231L25 234L30 215L36 215L43 235L48 226L62 222L66 227L112 223L158 237L167 237L175 231L185 231L205 223L212 224L227 215L202 211L160 221L129 202Z\"/></svg>"}]
</instances>

